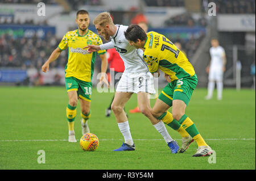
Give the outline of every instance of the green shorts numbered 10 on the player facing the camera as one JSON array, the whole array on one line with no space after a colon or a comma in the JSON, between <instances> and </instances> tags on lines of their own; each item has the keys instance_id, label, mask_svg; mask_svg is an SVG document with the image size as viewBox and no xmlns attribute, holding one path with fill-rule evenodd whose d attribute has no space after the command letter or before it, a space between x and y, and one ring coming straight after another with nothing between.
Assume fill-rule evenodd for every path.
<instances>
[{"instance_id":1,"label":"green shorts numbered 10 on the player facing the camera","mask_svg":"<svg viewBox=\"0 0 256 181\"><path fill-rule=\"evenodd\" d=\"M92 82L85 82L75 77L65 77L66 90L77 91L79 98L86 101L91 101L92 96Z\"/></svg>"}]
</instances>

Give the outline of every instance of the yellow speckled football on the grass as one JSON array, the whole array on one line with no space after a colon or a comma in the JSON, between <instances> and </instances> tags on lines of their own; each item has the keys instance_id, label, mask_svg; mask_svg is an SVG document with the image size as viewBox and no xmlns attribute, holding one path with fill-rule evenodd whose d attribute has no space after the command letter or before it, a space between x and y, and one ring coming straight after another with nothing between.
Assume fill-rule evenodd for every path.
<instances>
[{"instance_id":1,"label":"yellow speckled football on the grass","mask_svg":"<svg viewBox=\"0 0 256 181\"><path fill-rule=\"evenodd\" d=\"M93 133L86 133L80 139L80 146L85 151L95 151L99 145L98 137Z\"/></svg>"}]
</instances>

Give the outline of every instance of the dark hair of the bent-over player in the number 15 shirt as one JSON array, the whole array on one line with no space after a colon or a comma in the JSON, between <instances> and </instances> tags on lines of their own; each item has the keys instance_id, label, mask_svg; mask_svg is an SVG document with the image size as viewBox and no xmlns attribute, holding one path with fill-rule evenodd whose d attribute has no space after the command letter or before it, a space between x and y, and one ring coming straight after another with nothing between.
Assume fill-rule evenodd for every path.
<instances>
[{"instance_id":1,"label":"dark hair of the bent-over player in the number 15 shirt","mask_svg":"<svg viewBox=\"0 0 256 181\"><path fill-rule=\"evenodd\" d=\"M137 24L131 24L125 31L125 38L129 41L137 42L138 39L146 40L146 32Z\"/></svg>"}]
</instances>

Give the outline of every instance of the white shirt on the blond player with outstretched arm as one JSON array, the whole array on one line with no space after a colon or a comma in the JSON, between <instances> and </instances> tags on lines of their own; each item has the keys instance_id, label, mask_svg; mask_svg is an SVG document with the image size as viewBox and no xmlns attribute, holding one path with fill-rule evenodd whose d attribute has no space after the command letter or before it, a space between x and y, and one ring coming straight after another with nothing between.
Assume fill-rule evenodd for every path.
<instances>
[{"instance_id":1,"label":"white shirt on the blond player with outstretched arm","mask_svg":"<svg viewBox=\"0 0 256 181\"><path fill-rule=\"evenodd\" d=\"M113 36L110 36L111 41L109 43L100 45L101 50L115 48L125 64L124 73L147 72L146 62L139 57L139 54L143 54L143 50L134 48L125 38L125 31L128 26L119 24L115 26L117 26L117 31Z\"/></svg>"}]
</instances>

